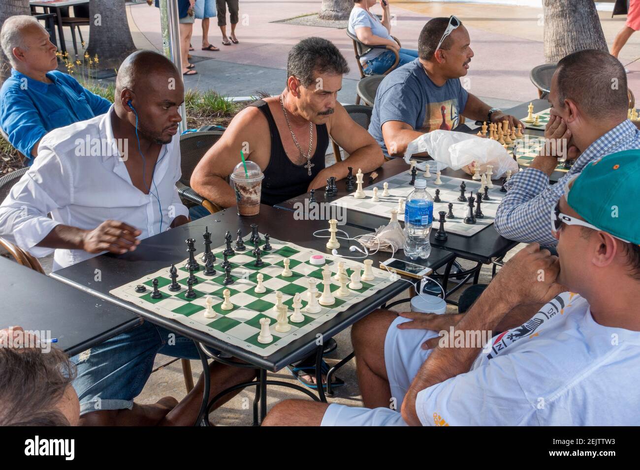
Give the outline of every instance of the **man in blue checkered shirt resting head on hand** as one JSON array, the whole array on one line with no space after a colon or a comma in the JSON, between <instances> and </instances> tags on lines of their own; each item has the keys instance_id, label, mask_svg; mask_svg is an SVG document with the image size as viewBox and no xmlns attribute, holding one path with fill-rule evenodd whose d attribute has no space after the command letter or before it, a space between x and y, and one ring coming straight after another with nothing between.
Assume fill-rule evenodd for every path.
<instances>
[{"instance_id":1,"label":"man in blue checkered shirt resting head on hand","mask_svg":"<svg viewBox=\"0 0 640 470\"><path fill-rule=\"evenodd\" d=\"M507 239L554 247L557 240L548 220L563 194L564 183L595 159L640 148L640 131L627 119L625 69L607 52L579 51L559 61L548 99L551 115L545 138L566 139L556 140L556 148L565 148L567 158L575 162L551 185L549 176L563 155L553 152L553 145L549 152L541 149L531 166L506 184L508 192L498 207L494 226Z\"/></svg>"}]
</instances>

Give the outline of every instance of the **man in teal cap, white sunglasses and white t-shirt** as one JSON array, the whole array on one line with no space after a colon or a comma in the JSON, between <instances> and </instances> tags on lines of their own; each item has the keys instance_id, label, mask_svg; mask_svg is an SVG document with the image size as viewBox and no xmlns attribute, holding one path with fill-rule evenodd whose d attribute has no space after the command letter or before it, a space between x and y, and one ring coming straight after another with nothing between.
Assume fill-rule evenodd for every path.
<instances>
[{"instance_id":1,"label":"man in teal cap, white sunglasses and white t-shirt","mask_svg":"<svg viewBox=\"0 0 640 470\"><path fill-rule=\"evenodd\" d=\"M354 325L367 408L287 400L264 423L640 424L639 177L640 150L589 164L549 214L559 257L522 249L436 349L426 314L377 311ZM513 327L518 308L548 299Z\"/></svg>"}]
</instances>

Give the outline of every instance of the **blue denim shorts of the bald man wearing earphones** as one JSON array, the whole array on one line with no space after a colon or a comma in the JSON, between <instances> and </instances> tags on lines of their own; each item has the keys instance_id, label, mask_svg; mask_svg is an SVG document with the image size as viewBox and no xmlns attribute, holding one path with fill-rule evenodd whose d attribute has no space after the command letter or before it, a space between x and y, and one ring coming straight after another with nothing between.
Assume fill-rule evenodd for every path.
<instances>
[{"instance_id":1,"label":"blue denim shorts of the bald man wearing earphones","mask_svg":"<svg viewBox=\"0 0 640 470\"><path fill-rule=\"evenodd\" d=\"M156 354L200 359L192 340L150 322L100 343L71 358L80 414L132 409L153 370Z\"/></svg>"}]
</instances>

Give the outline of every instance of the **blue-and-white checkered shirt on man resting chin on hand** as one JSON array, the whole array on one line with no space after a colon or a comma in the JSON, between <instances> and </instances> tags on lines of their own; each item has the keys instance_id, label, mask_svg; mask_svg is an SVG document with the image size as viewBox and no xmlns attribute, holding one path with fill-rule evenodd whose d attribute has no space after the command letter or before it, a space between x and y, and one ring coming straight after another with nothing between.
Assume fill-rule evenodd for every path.
<instances>
[{"instance_id":1,"label":"blue-and-white checkered shirt on man resting chin on hand","mask_svg":"<svg viewBox=\"0 0 640 470\"><path fill-rule=\"evenodd\" d=\"M507 194L500 203L493 225L509 240L541 246L556 246L551 232L551 211L564 194L564 184L591 161L622 150L640 149L640 130L626 120L589 145L572 168L556 184L541 170L527 168L506 184Z\"/></svg>"}]
</instances>

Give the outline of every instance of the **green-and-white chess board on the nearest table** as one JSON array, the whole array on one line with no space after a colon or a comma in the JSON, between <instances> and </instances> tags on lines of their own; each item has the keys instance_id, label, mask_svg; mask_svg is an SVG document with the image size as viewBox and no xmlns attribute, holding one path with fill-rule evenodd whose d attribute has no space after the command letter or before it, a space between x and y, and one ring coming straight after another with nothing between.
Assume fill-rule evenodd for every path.
<instances>
[{"instance_id":1,"label":"green-and-white chess board on the nearest table","mask_svg":"<svg viewBox=\"0 0 640 470\"><path fill-rule=\"evenodd\" d=\"M260 238L264 244L264 235L260 235ZM305 295L307 295L309 286L308 279L314 278L317 282L322 281L323 266L310 264L309 260L312 255L325 257L326 264L332 271L332 292L340 288L339 283L333 280L333 275L338 272L337 262L344 262L348 276L351 276L354 269L364 268L364 265L355 260L326 255L292 243L271 239L272 249L262 252L261 258L264 265L257 268L253 265L255 256L251 253L253 244L247 241L244 244L247 247L245 251L236 251L235 255L228 257L232 267L231 275L234 279L234 283L228 286L223 285L225 274L221 267L224 245L212 250L216 256L214 264L216 274L214 276L203 274L202 253L196 255L196 260L200 263L200 270L194 273L198 279L198 283L193 286L193 290L196 292L195 299L187 299L184 295L187 291L186 283L189 277L188 270L184 268L187 260L175 265L178 270L177 282L182 286L179 292L168 290L171 283L170 267L166 267L115 288L109 294L163 317L177 320L204 333L209 333L214 338L266 357L394 282L389 272L373 267L375 278L372 281L362 281L361 289L349 289L350 294L347 297L334 295L335 303L332 306L321 306L322 309L319 313L307 313L305 311L307 306ZM282 276L285 258L289 258L289 269L292 271L290 277ZM262 273L263 284L266 288L266 292L263 294L257 294L254 290L259 272ZM153 279L158 279L159 291L162 294L161 299L151 298ZM147 286L147 292L136 292L136 285L140 284ZM323 285L319 283L317 287L322 292ZM225 289L228 289L231 294L229 300L234 306L231 310L221 309ZM289 322L291 330L287 333L275 331L277 313L273 310L273 306L276 304L276 291L282 292L282 301L289 308L289 315L293 313L293 296L300 293L302 297L301 313L305 320L297 324ZM214 299L215 318L204 317L205 295L211 295ZM271 320L271 334L274 339L270 344L262 344L257 340L260 333L260 318L264 317Z\"/></svg>"}]
</instances>

